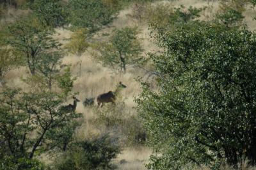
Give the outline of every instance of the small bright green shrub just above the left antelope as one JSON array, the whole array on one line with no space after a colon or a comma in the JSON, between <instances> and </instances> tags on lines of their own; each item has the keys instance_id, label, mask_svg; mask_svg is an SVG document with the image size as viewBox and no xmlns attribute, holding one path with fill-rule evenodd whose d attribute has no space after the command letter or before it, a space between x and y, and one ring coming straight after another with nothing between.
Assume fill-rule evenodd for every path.
<instances>
[{"instance_id":1,"label":"small bright green shrub just above the left antelope","mask_svg":"<svg viewBox=\"0 0 256 170\"><path fill-rule=\"evenodd\" d=\"M76 77L71 75L70 66L65 68L64 72L57 77L58 87L62 90L64 98L68 97L68 93L72 90L75 80Z\"/></svg>"}]
</instances>

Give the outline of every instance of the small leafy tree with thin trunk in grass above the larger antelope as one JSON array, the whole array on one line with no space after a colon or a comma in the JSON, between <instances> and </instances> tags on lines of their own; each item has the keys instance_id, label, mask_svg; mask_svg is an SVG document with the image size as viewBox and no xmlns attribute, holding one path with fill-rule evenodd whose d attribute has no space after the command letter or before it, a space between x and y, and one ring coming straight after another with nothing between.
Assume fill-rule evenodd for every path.
<instances>
[{"instance_id":1,"label":"small leafy tree with thin trunk in grass above the larger antelope","mask_svg":"<svg viewBox=\"0 0 256 170\"><path fill-rule=\"evenodd\" d=\"M104 64L126 71L127 64L136 64L141 61L142 48L138 40L136 27L116 29L109 43L99 44L97 58Z\"/></svg>"}]
</instances>

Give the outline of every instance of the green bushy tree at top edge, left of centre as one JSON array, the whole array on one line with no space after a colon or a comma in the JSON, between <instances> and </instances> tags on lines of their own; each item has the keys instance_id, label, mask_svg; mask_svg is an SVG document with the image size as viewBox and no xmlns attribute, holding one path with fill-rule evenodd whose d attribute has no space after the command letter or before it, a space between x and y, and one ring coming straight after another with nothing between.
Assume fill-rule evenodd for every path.
<instances>
[{"instance_id":1,"label":"green bushy tree at top edge, left of centre","mask_svg":"<svg viewBox=\"0 0 256 170\"><path fill-rule=\"evenodd\" d=\"M116 14L116 9L102 0L70 0L68 10L70 24L75 27L86 27L89 33L109 24Z\"/></svg>"}]
</instances>

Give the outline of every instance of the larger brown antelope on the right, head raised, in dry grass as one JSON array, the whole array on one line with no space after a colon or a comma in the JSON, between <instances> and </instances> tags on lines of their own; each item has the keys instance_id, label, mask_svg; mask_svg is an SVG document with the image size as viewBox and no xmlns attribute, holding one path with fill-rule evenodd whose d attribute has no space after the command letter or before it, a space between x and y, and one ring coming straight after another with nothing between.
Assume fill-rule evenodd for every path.
<instances>
[{"instance_id":1,"label":"larger brown antelope on the right, head raised, in dry grass","mask_svg":"<svg viewBox=\"0 0 256 170\"><path fill-rule=\"evenodd\" d=\"M121 89L126 88L122 82L119 82L115 91L109 91L108 93L103 93L97 97L97 103L99 107L102 107L104 103L115 104L116 95L120 92Z\"/></svg>"}]
</instances>

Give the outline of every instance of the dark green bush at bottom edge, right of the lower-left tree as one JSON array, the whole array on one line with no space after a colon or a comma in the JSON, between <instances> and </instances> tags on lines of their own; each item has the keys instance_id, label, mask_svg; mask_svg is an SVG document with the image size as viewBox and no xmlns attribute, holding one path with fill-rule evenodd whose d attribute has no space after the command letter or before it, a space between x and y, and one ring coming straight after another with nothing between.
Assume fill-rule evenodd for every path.
<instances>
[{"instance_id":1,"label":"dark green bush at bottom edge, right of the lower-left tree","mask_svg":"<svg viewBox=\"0 0 256 170\"><path fill-rule=\"evenodd\" d=\"M120 153L116 140L104 135L92 141L79 142L58 158L52 169L112 169L110 162Z\"/></svg>"}]
</instances>

